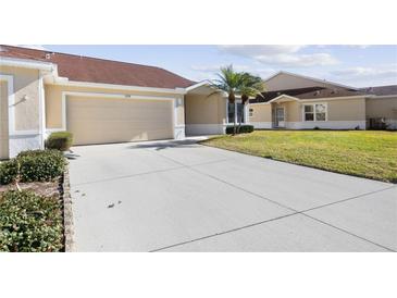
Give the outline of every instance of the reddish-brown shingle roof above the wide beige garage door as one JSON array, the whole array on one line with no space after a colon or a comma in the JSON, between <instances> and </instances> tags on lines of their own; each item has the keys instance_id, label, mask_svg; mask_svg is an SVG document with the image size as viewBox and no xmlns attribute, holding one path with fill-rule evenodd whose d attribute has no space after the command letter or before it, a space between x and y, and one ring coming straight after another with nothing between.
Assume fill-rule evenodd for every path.
<instances>
[{"instance_id":1,"label":"reddish-brown shingle roof above the wide beige garage door","mask_svg":"<svg viewBox=\"0 0 397 298\"><path fill-rule=\"evenodd\" d=\"M58 65L70 80L154 88L186 88L196 84L166 70L135 63L0 45L0 58L27 59Z\"/></svg>"}]
</instances>

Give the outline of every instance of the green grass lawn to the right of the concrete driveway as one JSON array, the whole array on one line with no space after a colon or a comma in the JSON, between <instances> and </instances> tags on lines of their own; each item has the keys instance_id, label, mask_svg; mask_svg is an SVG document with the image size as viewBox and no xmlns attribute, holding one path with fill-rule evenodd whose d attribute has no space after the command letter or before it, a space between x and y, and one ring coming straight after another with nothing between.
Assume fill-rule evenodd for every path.
<instances>
[{"instance_id":1,"label":"green grass lawn to the right of the concrete driveway","mask_svg":"<svg viewBox=\"0 0 397 298\"><path fill-rule=\"evenodd\" d=\"M332 172L397 183L397 133L256 131L203 145Z\"/></svg>"}]
</instances>

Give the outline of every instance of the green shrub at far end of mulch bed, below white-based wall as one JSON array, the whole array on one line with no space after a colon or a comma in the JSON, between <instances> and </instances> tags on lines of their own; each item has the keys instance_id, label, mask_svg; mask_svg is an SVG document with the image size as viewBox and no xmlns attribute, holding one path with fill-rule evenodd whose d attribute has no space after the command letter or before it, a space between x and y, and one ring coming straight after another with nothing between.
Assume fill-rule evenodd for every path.
<instances>
[{"instance_id":1,"label":"green shrub at far end of mulch bed, below white-based wall","mask_svg":"<svg viewBox=\"0 0 397 298\"><path fill-rule=\"evenodd\" d=\"M65 158L59 150L28 150L17 156L21 182L53 181L65 170Z\"/></svg>"}]
</instances>

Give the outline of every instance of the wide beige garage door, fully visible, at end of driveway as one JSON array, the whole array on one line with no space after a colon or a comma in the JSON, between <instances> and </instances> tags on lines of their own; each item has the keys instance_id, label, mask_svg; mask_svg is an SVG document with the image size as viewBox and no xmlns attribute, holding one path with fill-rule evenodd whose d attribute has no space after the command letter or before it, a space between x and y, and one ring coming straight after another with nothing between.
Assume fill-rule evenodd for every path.
<instances>
[{"instance_id":1,"label":"wide beige garage door, fully visible, at end of driveway","mask_svg":"<svg viewBox=\"0 0 397 298\"><path fill-rule=\"evenodd\" d=\"M67 131L74 145L173 138L172 101L66 98Z\"/></svg>"}]
</instances>

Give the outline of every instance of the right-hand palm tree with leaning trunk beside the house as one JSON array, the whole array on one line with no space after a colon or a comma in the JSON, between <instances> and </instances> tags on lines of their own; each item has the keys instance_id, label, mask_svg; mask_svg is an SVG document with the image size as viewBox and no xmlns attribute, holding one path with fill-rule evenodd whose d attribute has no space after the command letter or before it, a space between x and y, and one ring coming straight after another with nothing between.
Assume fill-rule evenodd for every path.
<instances>
[{"instance_id":1,"label":"right-hand palm tree with leaning trunk beside the house","mask_svg":"<svg viewBox=\"0 0 397 298\"><path fill-rule=\"evenodd\" d=\"M264 83L260 76L255 76L249 73L241 73L241 86L239 87L239 92L241 94L241 104L243 111L248 103L250 97L263 97L262 92L265 91ZM241 112L237 133L240 132L243 123L244 113Z\"/></svg>"}]
</instances>

